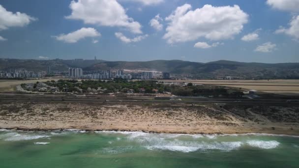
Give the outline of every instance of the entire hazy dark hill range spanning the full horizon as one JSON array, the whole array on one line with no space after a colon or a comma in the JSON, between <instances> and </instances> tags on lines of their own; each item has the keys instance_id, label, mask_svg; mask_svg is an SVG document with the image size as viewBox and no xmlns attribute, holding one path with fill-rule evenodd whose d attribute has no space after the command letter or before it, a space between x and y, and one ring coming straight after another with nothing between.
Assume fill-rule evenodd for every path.
<instances>
[{"instance_id":1,"label":"entire hazy dark hill range spanning the full horizon","mask_svg":"<svg viewBox=\"0 0 299 168\"><path fill-rule=\"evenodd\" d=\"M172 75L192 75L209 79L217 77L239 77L244 79L299 79L299 63L246 63L219 60L208 63L182 60L152 61L104 61L104 60L34 60L0 59L0 70L25 68L31 71L66 71L68 67L81 67L84 71L98 70L145 70L170 72Z\"/></svg>"}]
</instances>

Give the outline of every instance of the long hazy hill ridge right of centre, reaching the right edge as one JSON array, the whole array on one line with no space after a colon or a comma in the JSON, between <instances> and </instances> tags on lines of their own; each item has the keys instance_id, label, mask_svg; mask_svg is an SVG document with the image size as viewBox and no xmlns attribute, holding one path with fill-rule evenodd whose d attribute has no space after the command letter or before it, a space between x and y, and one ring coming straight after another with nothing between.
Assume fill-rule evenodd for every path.
<instances>
[{"instance_id":1,"label":"long hazy hill ridge right of centre, reaching the right edge","mask_svg":"<svg viewBox=\"0 0 299 168\"><path fill-rule=\"evenodd\" d=\"M101 62L85 68L85 70L106 69L155 70L178 75L192 75L202 79L225 76L244 79L299 79L299 63L267 64L227 60L199 63L182 60L153 60L145 62Z\"/></svg>"}]
</instances>

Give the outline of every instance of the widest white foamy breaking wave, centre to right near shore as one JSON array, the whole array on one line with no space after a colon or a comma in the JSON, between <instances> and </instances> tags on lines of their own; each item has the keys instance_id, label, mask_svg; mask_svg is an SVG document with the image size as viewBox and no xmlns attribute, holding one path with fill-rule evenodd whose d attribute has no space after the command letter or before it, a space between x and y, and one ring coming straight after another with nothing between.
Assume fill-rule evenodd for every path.
<instances>
[{"instance_id":1,"label":"widest white foamy breaking wave, centre to right near shore","mask_svg":"<svg viewBox=\"0 0 299 168\"><path fill-rule=\"evenodd\" d=\"M218 135L149 134L143 132L117 131L99 131L96 133L124 135L125 139L136 141L149 150L170 150L185 153L206 150L231 151L245 146L260 149L272 149L278 147L280 144L275 140L217 141ZM233 137L234 136L239 135L233 135Z\"/></svg>"}]
</instances>

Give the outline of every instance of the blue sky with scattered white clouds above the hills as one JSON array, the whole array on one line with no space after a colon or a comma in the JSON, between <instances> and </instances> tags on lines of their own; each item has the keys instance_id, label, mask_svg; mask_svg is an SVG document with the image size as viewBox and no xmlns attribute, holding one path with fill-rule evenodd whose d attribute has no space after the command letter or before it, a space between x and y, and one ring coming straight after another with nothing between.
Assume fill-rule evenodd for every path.
<instances>
[{"instance_id":1,"label":"blue sky with scattered white clouds above the hills","mask_svg":"<svg viewBox=\"0 0 299 168\"><path fill-rule=\"evenodd\" d=\"M0 57L299 62L299 0L1 0Z\"/></svg>"}]
</instances>

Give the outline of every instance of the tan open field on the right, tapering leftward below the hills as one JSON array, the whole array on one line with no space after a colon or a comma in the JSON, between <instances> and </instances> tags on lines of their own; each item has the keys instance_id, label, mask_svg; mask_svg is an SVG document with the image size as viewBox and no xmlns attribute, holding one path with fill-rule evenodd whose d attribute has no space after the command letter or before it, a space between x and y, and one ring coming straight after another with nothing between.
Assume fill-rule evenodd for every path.
<instances>
[{"instance_id":1,"label":"tan open field on the right, tapering leftward below the hills","mask_svg":"<svg viewBox=\"0 0 299 168\"><path fill-rule=\"evenodd\" d=\"M162 80L163 81L163 80ZM229 87L238 87L246 90L257 90L269 93L296 95L299 94L299 80L191 80L191 81L174 81L164 82L185 82L193 84L214 84Z\"/></svg>"}]
</instances>

